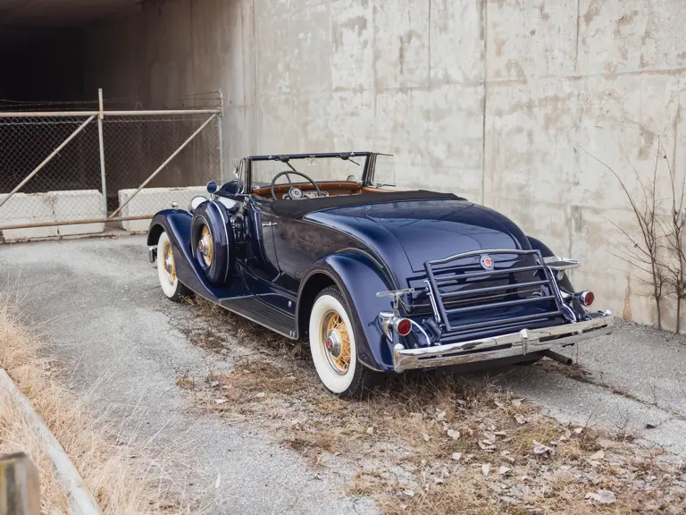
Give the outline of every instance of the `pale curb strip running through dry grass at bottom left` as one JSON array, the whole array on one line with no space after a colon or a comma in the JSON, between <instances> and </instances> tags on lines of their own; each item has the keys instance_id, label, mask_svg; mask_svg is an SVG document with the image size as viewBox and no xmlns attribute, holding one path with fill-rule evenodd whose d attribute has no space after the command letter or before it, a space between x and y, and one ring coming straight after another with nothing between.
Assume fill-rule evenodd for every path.
<instances>
[{"instance_id":1,"label":"pale curb strip running through dry grass at bottom left","mask_svg":"<svg viewBox=\"0 0 686 515\"><path fill-rule=\"evenodd\" d=\"M21 407L27 422L43 442L50 460L53 461L57 479L67 493L70 513L72 515L99 515L100 508L93 494L88 490L88 486L84 485L79 470L71 463L62 445L54 437L52 431L48 429L43 418L40 418L40 415L33 409L29 399L19 391L12 378L2 367L0 367L0 385L10 393L13 400Z\"/></svg>"}]
</instances>

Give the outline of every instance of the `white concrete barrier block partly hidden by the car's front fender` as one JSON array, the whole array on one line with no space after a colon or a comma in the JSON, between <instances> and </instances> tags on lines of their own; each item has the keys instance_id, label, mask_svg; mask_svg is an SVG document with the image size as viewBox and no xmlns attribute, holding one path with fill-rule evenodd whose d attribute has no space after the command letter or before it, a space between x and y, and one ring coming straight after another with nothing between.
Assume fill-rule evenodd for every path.
<instances>
[{"instance_id":1,"label":"white concrete barrier block partly hidden by the car's front fender","mask_svg":"<svg viewBox=\"0 0 686 515\"><path fill-rule=\"evenodd\" d=\"M119 205L123 205L136 190L119 190ZM145 188L140 190L130 203L121 210L121 216L150 216L157 211L171 209L171 203L179 204L180 209L188 209L190 200L198 195L207 197L205 186L189 186L188 188ZM129 232L146 232L150 220L130 220L121 222L121 228Z\"/></svg>"}]
</instances>

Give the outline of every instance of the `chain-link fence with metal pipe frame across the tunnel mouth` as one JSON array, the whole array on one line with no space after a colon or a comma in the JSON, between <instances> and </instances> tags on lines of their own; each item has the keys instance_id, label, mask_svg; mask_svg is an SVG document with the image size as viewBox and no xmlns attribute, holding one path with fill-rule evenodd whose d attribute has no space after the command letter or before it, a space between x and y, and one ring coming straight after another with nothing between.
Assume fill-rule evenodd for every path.
<instances>
[{"instance_id":1,"label":"chain-link fence with metal pipe frame across the tunnel mouth","mask_svg":"<svg viewBox=\"0 0 686 515\"><path fill-rule=\"evenodd\" d=\"M176 111L0 111L5 240L144 231L223 180L221 105Z\"/></svg>"}]
</instances>

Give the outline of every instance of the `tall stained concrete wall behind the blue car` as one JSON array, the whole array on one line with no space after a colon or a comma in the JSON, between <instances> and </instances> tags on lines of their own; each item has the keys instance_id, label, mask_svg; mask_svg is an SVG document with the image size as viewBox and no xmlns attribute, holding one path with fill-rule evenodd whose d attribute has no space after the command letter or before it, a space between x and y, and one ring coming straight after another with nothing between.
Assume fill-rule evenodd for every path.
<instances>
[{"instance_id":1,"label":"tall stained concrete wall behind the blue car","mask_svg":"<svg viewBox=\"0 0 686 515\"><path fill-rule=\"evenodd\" d=\"M503 211L581 258L598 306L653 323L613 257L629 205L592 156L638 196L660 142L658 196L667 163L682 177L684 20L686 0L174 0L90 30L88 80L150 107L222 88L229 163L392 152L399 185Z\"/></svg>"}]
</instances>

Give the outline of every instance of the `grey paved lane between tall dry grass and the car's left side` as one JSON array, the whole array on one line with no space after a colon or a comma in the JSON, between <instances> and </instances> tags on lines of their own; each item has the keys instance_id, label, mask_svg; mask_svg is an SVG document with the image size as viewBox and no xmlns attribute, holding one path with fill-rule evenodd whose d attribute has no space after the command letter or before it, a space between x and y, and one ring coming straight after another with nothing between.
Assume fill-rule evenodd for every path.
<instances>
[{"instance_id":1,"label":"grey paved lane between tall dry grass and the car's left side","mask_svg":"<svg viewBox=\"0 0 686 515\"><path fill-rule=\"evenodd\" d=\"M164 299L145 237L4 245L0 270L0 292L21 300L71 386L108 430L150 452L150 473L196 500L194 512L376 512L346 497L344 476L309 469L260 427L192 408L177 379L229 365L170 324L188 307Z\"/></svg>"}]
</instances>

